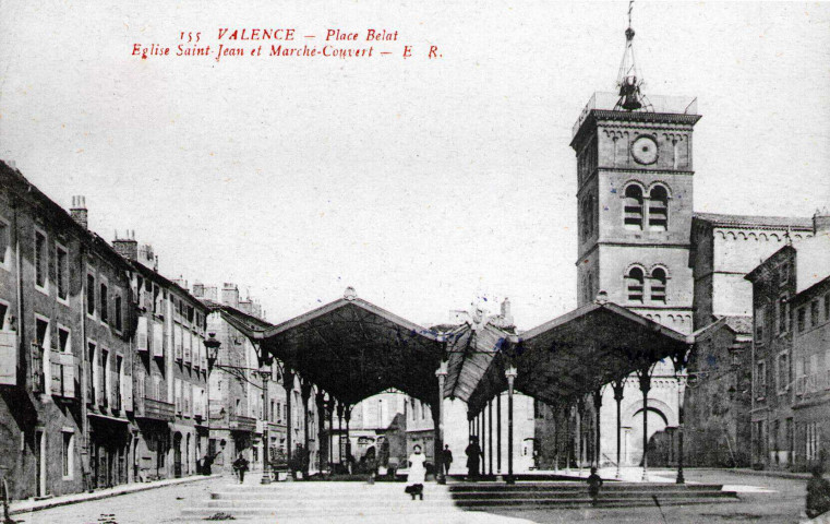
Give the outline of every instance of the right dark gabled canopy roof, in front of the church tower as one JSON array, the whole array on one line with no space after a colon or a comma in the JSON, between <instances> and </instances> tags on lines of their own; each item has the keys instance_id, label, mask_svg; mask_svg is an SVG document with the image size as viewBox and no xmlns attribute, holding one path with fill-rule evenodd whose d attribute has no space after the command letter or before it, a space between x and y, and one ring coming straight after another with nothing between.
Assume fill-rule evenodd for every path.
<instances>
[{"instance_id":1,"label":"right dark gabled canopy roof, in front of the church tower","mask_svg":"<svg viewBox=\"0 0 830 524\"><path fill-rule=\"evenodd\" d=\"M690 342L615 303L587 305L518 336L505 336L467 403L476 414L505 391L509 361L518 370L516 390L550 404L567 404L686 352Z\"/></svg>"}]
</instances>

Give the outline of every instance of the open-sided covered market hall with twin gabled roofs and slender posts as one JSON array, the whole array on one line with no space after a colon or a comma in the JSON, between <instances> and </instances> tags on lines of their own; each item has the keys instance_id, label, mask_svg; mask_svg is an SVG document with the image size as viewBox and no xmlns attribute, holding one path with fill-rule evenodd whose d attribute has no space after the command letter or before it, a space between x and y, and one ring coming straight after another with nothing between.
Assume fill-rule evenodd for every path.
<instances>
[{"instance_id":1,"label":"open-sided covered market hall with twin gabled roofs and slender posts","mask_svg":"<svg viewBox=\"0 0 830 524\"><path fill-rule=\"evenodd\" d=\"M299 380L304 413L312 391L316 391L321 424L320 442L324 442L324 421L334 428L337 415L340 427L346 422L347 456L351 408L359 402L388 390L397 390L432 408L434 455L440 461L444 441L445 398L460 400L467 405L469 434L481 443L493 461L493 405L497 406L495 438L501 456L502 424L506 428L507 453L504 480L513 484L514 474L514 392L520 392L552 406L560 413L575 415L575 424L588 424L590 438L576 439L563 453L569 463L573 455L599 465L599 413L603 388L613 388L616 401L617 476L621 463L621 412L623 382L639 381L643 413L648 409L648 392L654 366L666 359L674 364L678 382L691 348L691 340L676 331L640 317L608 301L603 294L597 300L525 332L517 332L501 315L476 311L459 325L424 327L358 298L353 288L344 297L280 324L270 324L238 309L213 303L233 329L248 337L257 352L261 365L280 362L285 381ZM284 382L285 382L284 381ZM679 388L681 395L683 388ZM507 412L502 417L502 396L506 393ZM291 427L291 397L286 409ZM297 402L297 401L294 401ZM267 400L265 400L267 405ZM592 420L588 418L591 417ZM678 400L677 483L683 477L683 401ZM506 420L502 420L506 418ZM648 468L648 417L642 418L642 475ZM486 422L485 422L486 420ZM488 424L489 422L489 424ZM590 424L589 424L590 422ZM570 427L556 425L555 439L568 439ZM305 441L308 445L308 425ZM328 433L326 451L320 453L320 469L333 460ZM291 431L287 432L287 452L292 450ZM586 449L590 453L586 453ZM489 451L488 451L489 450ZM485 458L486 461L486 458ZM438 483L444 483L443 468L436 464ZM267 464L264 465L267 468Z\"/></svg>"}]
</instances>

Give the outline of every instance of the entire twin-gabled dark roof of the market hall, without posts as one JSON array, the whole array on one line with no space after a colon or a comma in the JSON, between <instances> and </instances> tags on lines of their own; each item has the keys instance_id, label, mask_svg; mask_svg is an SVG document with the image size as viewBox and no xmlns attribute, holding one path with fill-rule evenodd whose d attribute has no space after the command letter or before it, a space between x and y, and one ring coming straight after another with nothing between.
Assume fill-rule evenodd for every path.
<instances>
[{"instance_id":1,"label":"entire twin-gabled dark roof of the market hall, without posts","mask_svg":"<svg viewBox=\"0 0 830 524\"><path fill-rule=\"evenodd\" d=\"M480 410L507 389L551 404L573 402L645 365L677 355L689 340L612 302L597 302L517 334L497 315L426 329L347 295L280 324L209 302L233 327L346 404L396 389L434 404L435 371L447 361L444 397Z\"/></svg>"}]
</instances>

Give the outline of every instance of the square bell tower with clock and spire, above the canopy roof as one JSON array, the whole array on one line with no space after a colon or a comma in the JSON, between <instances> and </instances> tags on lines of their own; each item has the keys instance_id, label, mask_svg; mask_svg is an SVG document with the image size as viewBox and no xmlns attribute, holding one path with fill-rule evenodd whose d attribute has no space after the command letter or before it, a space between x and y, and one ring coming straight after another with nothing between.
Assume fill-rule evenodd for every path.
<instances>
[{"instance_id":1,"label":"square bell tower with clock and spire, above the canopy roof","mask_svg":"<svg viewBox=\"0 0 830 524\"><path fill-rule=\"evenodd\" d=\"M691 332L689 237L695 98L643 94L626 47L616 93L594 93L573 129L577 156L578 303L609 300Z\"/></svg>"}]
</instances>

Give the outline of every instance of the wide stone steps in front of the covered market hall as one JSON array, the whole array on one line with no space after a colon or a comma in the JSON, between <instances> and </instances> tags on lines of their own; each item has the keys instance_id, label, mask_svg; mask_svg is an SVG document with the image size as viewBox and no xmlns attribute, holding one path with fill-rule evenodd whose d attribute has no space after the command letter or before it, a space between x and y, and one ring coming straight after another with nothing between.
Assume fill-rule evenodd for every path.
<instances>
[{"instance_id":1,"label":"wide stone steps in front of the covered market hall","mask_svg":"<svg viewBox=\"0 0 830 524\"><path fill-rule=\"evenodd\" d=\"M337 519L368 515L422 515L545 508L630 508L660 504L696 504L737 500L719 485L608 483L594 503L585 483L518 483L516 485L470 483L424 485L424 500L411 500L402 483L280 483L275 485L228 485L182 511L182 520L195 522L218 513L242 520ZM382 519L383 521L383 519ZM385 522L385 521L384 521Z\"/></svg>"}]
</instances>

